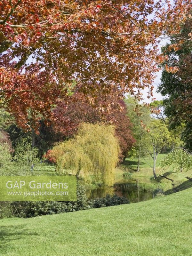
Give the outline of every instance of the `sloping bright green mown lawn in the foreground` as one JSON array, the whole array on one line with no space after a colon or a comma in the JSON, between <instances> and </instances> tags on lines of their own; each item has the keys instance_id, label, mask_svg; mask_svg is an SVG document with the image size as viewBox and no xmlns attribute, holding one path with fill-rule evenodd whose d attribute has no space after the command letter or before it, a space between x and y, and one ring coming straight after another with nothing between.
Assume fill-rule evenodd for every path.
<instances>
[{"instance_id":1,"label":"sloping bright green mown lawn in the foreground","mask_svg":"<svg viewBox=\"0 0 192 256\"><path fill-rule=\"evenodd\" d=\"M153 200L0 220L2 256L192 255L192 188Z\"/></svg>"}]
</instances>

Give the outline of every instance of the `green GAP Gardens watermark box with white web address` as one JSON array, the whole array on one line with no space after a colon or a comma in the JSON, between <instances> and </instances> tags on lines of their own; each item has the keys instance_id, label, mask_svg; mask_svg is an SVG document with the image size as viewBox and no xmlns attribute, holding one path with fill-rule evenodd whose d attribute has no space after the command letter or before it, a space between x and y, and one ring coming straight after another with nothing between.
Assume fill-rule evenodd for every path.
<instances>
[{"instance_id":1,"label":"green GAP Gardens watermark box with white web address","mask_svg":"<svg viewBox=\"0 0 192 256\"><path fill-rule=\"evenodd\" d=\"M76 177L2 176L0 201L76 201Z\"/></svg>"}]
</instances>

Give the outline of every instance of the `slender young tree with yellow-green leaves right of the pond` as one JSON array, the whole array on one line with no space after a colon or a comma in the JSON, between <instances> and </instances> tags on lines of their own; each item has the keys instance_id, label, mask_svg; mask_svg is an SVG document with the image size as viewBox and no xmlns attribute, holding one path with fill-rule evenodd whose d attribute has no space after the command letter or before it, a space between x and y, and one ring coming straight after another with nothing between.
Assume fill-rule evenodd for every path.
<instances>
[{"instance_id":1,"label":"slender young tree with yellow-green leaves right of the pond","mask_svg":"<svg viewBox=\"0 0 192 256\"><path fill-rule=\"evenodd\" d=\"M159 153L162 152L162 149L168 145L171 141L170 132L168 131L166 125L159 120L153 120L148 126L149 132L146 137L146 150L148 154L153 159L153 166L151 166L144 158L144 160L151 166L153 169L153 175L156 179L156 159Z\"/></svg>"}]
</instances>

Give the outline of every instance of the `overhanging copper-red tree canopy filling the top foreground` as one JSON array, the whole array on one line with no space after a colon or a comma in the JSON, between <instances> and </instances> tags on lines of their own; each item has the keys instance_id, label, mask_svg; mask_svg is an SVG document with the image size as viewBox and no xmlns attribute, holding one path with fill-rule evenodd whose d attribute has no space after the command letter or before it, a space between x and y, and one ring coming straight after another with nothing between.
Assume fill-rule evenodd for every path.
<instances>
[{"instance_id":1,"label":"overhanging copper-red tree canopy filling the top foreground","mask_svg":"<svg viewBox=\"0 0 192 256\"><path fill-rule=\"evenodd\" d=\"M100 95L116 101L141 96L157 71L158 38L177 33L188 2L2 0L0 2L0 99L23 128L68 97L66 84L98 105ZM32 60L33 63L30 63Z\"/></svg>"}]
</instances>

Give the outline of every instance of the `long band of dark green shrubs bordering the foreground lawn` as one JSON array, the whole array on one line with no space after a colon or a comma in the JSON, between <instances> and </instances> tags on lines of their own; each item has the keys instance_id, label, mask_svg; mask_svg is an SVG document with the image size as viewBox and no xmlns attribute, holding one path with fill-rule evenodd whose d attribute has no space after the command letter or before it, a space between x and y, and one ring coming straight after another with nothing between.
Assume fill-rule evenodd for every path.
<instances>
[{"instance_id":1,"label":"long band of dark green shrubs bordering the foreground lawn","mask_svg":"<svg viewBox=\"0 0 192 256\"><path fill-rule=\"evenodd\" d=\"M0 202L0 218L21 217L30 218L64 212L75 212L91 208L100 208L119 204L129 204L125 197L107 195L104 198L88 200L84 186L77 185L77 201L24 201Z\"/></svg>"}]
</instances>

